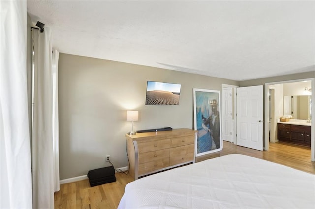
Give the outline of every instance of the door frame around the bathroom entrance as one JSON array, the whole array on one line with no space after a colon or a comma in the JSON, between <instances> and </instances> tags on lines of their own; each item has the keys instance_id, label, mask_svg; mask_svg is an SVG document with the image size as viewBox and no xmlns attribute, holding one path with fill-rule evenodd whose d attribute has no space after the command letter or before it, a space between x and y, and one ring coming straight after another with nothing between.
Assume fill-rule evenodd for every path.
<instances>
[{"instance_id":1,"label":"door frame around the bathroom entrance","mask_svg":"<svg viewBox=\"0 0 315 209\"><path fill-rule=\"evenodd\" d=\"M301 81L311 81L311 89L312 89L312 101L315 101L315 78L305 78L305 79L298 79L298 80L286 80L286 81L279 81L279 82L271 82L265 83L265 120L264 120L264 127L265 127L265 147L264 150L269 150L269 130L268 130L268 118L269 115L269 88L271 85L275 84L283 84L283 83L294 83L294 82L301 82ZM314 102L313 102L314 103ZM312 105L312 123L311 123L311 161L315 161L315 105Z\"/></svg>"}]
</instances>

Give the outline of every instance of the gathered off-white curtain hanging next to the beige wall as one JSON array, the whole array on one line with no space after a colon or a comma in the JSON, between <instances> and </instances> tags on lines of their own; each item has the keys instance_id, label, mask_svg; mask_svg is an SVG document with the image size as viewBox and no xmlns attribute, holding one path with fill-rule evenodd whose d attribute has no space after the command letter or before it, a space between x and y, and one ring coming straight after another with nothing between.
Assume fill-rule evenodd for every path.
<instances>
[{"instance_id":1,"label":"gathered off-white curtain hanging next to the beige wall","mask_svg":"<svg viewBox=\"0 0 315 209\"><path fill-rule=\"evenodd\" d=\"M54 153L57 152L58 154L58 103L56 103L58 97L58 68L56 66L58 66L58 63L55 62L53 67L50 28L45 27L43 33L39 30L33 30L33 38L33 206L36 209L54 208L54 191L55 189L59 190L59 157L56 157L56 153ZM58 62L58 51L56 51L56 54L54 55L54 61L57 60ZM54 141L54 138L57 141ZM58 168L58 171L56 168ZM58 174L57 177L56 174Z\"/></svg>"}]
</instances>

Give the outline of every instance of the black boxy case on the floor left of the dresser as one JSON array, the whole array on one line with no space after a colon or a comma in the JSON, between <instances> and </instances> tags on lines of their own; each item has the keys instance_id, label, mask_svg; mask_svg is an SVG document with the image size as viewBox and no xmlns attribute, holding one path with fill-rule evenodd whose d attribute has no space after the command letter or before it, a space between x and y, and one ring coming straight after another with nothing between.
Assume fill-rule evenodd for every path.
<instances>
[{"instance_id":1,"label":"black boxy case on the floor left of the dresser","mask_svg":"<svg viewBox=\"0 0 315 209\"><path fill-rule=\"evenodd\" d=\"M115 169L113 166L90 170L88 177L91 187L116 182Z\"/></svg>"}]
</instances>

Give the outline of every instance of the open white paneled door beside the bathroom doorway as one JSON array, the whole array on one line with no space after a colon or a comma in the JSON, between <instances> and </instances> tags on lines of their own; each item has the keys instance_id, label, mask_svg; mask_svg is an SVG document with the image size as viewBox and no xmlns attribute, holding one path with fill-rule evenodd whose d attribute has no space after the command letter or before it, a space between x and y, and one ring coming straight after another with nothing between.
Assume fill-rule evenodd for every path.
<instances>
[{"instance_id":1,"label":"open white paneled door beside the bathroom doorway","mask_svg":"<svg viewBox=\"0 0 315 209\"><path fill-rule=\"evenodd\" d=\"M263 86L237 88L236 144L263 150Z\"/></svg>"}]
</instances>

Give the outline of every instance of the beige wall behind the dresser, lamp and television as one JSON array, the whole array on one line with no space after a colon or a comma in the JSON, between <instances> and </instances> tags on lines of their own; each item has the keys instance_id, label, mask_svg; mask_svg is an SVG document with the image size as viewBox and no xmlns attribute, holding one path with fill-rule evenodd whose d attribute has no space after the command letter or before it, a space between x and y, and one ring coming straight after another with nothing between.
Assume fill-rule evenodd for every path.
<instances>
[{"instance_id":1,"label":"beige wall behind the dresser, lamp and television","mask_svg":"<svg viewBox=\"0 0 315 209\"><path fill-rule=\"evenodd\" d=\"M146 106L147 81L180 83L178 106ZM60 179L128 165L126 110L139 110L134 130L193 128L193 88L220 90L237 81L69 54L59 57Z\"/></svg>"}]
</instances>

